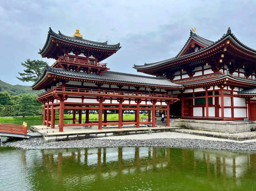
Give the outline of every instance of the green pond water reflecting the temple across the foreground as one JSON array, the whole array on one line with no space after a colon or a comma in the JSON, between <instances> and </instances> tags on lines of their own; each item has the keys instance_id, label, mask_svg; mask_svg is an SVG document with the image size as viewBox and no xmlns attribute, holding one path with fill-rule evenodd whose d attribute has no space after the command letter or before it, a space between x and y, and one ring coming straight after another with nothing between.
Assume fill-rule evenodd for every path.
<instances>
[{"instance_id":1,"label":"green pond water reflecting the temple across the foreground","mask_svg":"<svg viewBox=\"0 0 256 191\"><path fill-rule=\"evenodd\" d=\"M0 190L256 190L256 153L0 147Z\"/></svg>"}]
</instances>

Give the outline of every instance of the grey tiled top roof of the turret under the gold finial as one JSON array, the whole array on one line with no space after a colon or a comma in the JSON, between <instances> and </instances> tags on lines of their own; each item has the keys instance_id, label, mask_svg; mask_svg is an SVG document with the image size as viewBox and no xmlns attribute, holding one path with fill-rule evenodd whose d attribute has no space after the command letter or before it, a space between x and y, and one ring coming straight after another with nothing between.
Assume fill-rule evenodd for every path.
<instances>
[{"instance_id":1,"label":"grey tiled top roof of the turret under the gold finial","mask_svg":"<svg viewBox=\"0 0 256 191\"><path fill-rule=\"evenodd\" d=\"M38 52L39 54L42 54L44 52L45 48L47 47L48 41L50 40L50 36L53 36L55 38L58 38L58 39L61 39L61 40L64 40L64 41L76 43L76 44L79 44L79 45L85 45L85 46L89 46L89 47L103 48L103 49L118 49L118 50L121 48L120 43L118 43L118 44L108 44L107 41L106 42L95 42L95 41L90 41L90 40L83 39L82 37L66 36L66 35L62 34L60 31L57 34L57 33L53 32L53 30L50 27L49 31L48 31L48 36L47 36L46 42L44 44L44 47L43 47L42 50L39 49L39 52Z\"/></svg>"}]
</instances>

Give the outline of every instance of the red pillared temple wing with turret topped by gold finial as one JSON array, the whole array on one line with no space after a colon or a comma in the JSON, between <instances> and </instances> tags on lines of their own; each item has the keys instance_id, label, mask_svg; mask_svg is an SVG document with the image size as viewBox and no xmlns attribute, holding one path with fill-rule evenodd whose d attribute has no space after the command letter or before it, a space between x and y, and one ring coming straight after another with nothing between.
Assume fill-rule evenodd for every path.
<instances>
[{"instance_id":1,"label":"red pillared temple wing with turret topped by gold finial","mask_svg":"<svg viewBox=\"0 0 256 191\"><path fill-rule=\"evenodd\" d=\"M121 129L125 124L134 124L137 128L141 124L155 127L156 110L160 108L166 112L169 126L170 105L179 100L170 92L183 90L184 86L170 82L165 76L110 71L107 63L101 62L120 48L120 43L86 40L78 29L70 37L50 28L39 54L56 61L32 86L33 90L45 89L38 95L38 101L44 103L43 125L56 128L55 120L59 120L59 132L63 132L65 126L97 125L99 130L107 125L118 125ZM59 110L59 119L55 119L56 110ZM64 119L64 110L73 110L72 118ZM89 121L89 110L98 111L98 121ZM115 110L118 121L107 121L107 110ZM123 120L124 110L135 111L135 120ZM149 117L147 122L140 122L140 110L151 111L152 120ZM86 111L85 121L82 121L82 111ZM64 124L64 120L73 123Z\"/></svg>"}]
</instances>

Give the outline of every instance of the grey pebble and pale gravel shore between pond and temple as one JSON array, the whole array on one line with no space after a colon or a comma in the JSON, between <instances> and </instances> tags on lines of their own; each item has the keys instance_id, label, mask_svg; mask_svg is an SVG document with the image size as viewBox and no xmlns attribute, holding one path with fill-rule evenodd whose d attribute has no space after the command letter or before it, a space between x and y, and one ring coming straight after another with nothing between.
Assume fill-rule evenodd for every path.
<instances>
[{"instance_id":1,"label":"grey pebble and pale gravel shore between pond and temple","mask_svg":"<svg viewBox=\"0 0 256 191\"><path fill-rule=\"evenodd\" d=\"M198 139L199 137L199 139ZM232 141L211 137L202 137L184 133L153 133L44 143L43 139L35 138L26 141L8 142L7 146L34 149L71 149L98 147L176 147L197 149L219 149L232 151L256 151L255 142Z\"/></svg>"}]
</instances>

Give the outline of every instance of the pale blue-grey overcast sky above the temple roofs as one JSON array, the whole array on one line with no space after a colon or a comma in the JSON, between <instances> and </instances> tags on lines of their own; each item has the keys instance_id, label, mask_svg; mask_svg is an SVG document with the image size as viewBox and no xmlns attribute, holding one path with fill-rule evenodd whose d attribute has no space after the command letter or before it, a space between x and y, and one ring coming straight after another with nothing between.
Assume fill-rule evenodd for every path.
<instances>
[{"instance_id":1,"label":"pale blue-grey overcast sky above the temple roofs","mask_svg":"<svg viewBox=\"0 0 256 191\"><path fill-rule=\"evenodd\" d=\"M217 41L231 27L235 36L256 49L256 0L0 0L0 80L23 83L16 76L26 59L37 53L49 27L73 36L121 43L122 48L103 62L112 71L137 73L133 64L176 56L189 30ZM53 59L43 58L49 65Z\"/></svg>"}]
</instances>

